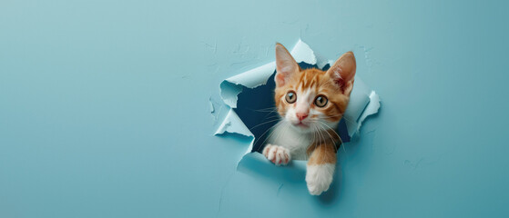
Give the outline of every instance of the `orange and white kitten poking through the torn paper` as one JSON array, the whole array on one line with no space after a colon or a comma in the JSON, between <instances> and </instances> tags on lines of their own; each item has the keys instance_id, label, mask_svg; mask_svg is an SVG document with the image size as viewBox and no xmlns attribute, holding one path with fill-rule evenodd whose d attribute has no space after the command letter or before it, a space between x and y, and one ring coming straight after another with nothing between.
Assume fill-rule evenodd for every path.
<instances>
[{"instance_id":1,"label":"orange and white kitten poking through the torn paper","mask_svg":"<svg viewBox=\"0 0 509 218\"><path fill-rule=\"evenodd\" d=\"M327 71L300 70L288 50L276 45L275 100L281 120L262 154L276 165L308 160L306 183L320 195L332 183L336 166L335 129L350 100L355 75L353 53L342 54Z\"/></svg>"}]
</instances>

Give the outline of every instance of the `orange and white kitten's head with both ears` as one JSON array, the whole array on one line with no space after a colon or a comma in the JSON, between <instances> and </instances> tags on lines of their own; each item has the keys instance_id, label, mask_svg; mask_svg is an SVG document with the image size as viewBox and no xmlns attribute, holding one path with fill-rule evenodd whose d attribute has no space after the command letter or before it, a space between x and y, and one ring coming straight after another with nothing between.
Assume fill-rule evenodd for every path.
<instances>
[{"instance_id":1,"label":"orange and white kitten's head with both ears","mask_svg":"<svg viewBox=\"0 0 509 218\"><path fill-rule=\"evenodd\" d=\"M276 45L275 101L281 117L302 133L336 128L350 101L355 56L348 52L328 71L300 70L288 50Z\"/></svg>"}]
</instances>

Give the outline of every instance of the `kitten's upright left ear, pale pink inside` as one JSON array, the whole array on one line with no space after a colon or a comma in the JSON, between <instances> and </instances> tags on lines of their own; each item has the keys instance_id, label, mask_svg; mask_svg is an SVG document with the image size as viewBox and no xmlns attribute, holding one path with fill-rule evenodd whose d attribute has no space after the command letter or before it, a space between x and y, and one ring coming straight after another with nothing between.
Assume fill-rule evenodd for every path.
<instances>
[{"instance_id":1,"label":"kitten's upright left ear, pale pink inside","mask_svg":"<svg viewBox=\"0 0 509 218\"><path fill-rule=\"evenodd\" d=\"M276 44L276 76L274 77L276 86L280 87L288 83L290 75L299 71L299 64L295 62L288 50L283 45Z\"/></svg>"}]
</instances>

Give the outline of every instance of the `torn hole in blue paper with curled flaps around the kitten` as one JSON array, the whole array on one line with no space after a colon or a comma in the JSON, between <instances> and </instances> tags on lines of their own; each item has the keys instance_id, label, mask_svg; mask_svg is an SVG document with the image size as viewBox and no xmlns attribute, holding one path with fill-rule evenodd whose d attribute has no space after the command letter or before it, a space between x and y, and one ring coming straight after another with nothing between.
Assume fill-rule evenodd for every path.
<instances>
[{"instance_id":1,"label":"torn hole in blue paper with curled flaps around the kitten","mask_svg":"<svg viewBox=\"0 0 509 218\"><path fill-rule=\"evenodd\" d=\"M333 63L315 54L310 46L301 40L293 47L290 54L299 63L301 69L316 67L327 70ZM275 62L271 62L229 77L219 85L221 98L229 106L229 113L215 134L242 134L251 137L252 140L243 159L264 160L257 157L261 154L252 152L260 152L265 139L270 134L270 127L279 121L273 96L275 69ZM359 76L355 76L350 103L337 130L342 142L350 142L366 117L376 114L379 108L378 94L364 84ZM257 163L270 164L269 161Z\"/></svg>"}]
</instances>

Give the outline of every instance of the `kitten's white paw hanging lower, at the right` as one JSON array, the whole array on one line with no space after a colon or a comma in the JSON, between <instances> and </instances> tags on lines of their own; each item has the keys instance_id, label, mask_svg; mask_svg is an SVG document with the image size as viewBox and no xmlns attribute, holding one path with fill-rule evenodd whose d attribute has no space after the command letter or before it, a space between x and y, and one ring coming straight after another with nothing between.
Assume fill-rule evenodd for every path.
<instances>
[{"instance_id":1,"label":"kitten's white paw hanging lower, at the right","mask_svg":"<svg viewBox=\"0 0 509 218\"><path fill-rule=\"evenodd\" d=\"M334 164L325 163L320 165L308 165L306 183L312 195L320 195L329 190L334 174Z\"/></svg>"}]
</instances>

